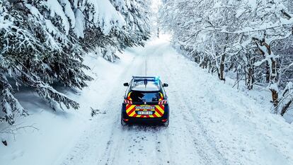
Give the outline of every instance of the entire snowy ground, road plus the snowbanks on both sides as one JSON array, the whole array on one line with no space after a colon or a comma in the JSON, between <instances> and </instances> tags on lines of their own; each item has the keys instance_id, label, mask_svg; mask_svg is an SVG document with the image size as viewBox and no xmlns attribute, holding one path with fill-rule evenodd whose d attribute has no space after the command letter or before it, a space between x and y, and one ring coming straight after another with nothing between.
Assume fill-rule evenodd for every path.
<instances>
[{"instance_id":1,"label":"entire snowy ground, road plus the snowbanks on both sides","mask_svg":"<svg viewBox=\"0 0 293 165\"><path fill-rule=\"evenodd\" d=\"M237 91L178 54L167 39L128 49L115 64L86 60L96 78L69 93L78 111L35 110L38 132L1 147L5 165L293 164L293 125L268 111L269 95ZM146 66L146 67L145 67ZM124 82L132 75L161 76L171 108L169 127L120 125ZM25 94L27 96L27 94ZM24 96L23 96L24 97ZM100 113L90 117L91 108ZM60 115L61 114L61 115ZM10 147L10 148L9 148ZM1 164L1 163L0 163Z\"/></svg>"}]
</instances>

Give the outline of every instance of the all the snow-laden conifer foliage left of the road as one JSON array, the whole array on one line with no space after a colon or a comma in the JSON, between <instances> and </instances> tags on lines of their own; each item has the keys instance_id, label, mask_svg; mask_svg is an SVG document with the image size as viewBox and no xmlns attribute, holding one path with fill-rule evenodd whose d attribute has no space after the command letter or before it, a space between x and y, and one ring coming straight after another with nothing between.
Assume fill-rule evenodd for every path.
<instances>
[{"instance_id":1,"label":"all the snow-laden conifer foliage left of the road","mask_svg":"<svg viewBox=\"0 0 293 165\"><path fill-rule=\"evenodd\" d=\"M86 52L114 62L117 50L149 38L149 1L0 0L0 123L28 115L14 94L28 86L38 96L66 108L79 103L52 84L82 89Z\"/></svg>"}]
</instances>

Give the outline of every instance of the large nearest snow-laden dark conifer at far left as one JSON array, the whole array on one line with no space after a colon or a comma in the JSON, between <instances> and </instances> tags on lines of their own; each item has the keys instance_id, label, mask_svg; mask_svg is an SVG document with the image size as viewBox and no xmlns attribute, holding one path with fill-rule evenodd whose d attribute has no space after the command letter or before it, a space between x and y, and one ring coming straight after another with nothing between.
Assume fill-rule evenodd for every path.
<instances>
[{"instance_id":1,"label":"large nearest snow-laden dark conifer at far left","mask_svg":"<svg viewBox=\"0 0 293 165\"><path fill-rule=\"evenodd\" d=\"M52 107L62 103L67 108L79 108L78 103L50 84L58 81L81 89L91 80L82 70L88 67L82 64L81 47L67 37L67 24L56 20L62 18L62 13L51 11L50 5L42 2L1 1L0 4L0 20L4 25L0 28L1 107L2 116L10 124L16 113L26 114L13 96L15 90L11 83L30 86L40 97L50 101Z\"/></svg>"}]
</instances>

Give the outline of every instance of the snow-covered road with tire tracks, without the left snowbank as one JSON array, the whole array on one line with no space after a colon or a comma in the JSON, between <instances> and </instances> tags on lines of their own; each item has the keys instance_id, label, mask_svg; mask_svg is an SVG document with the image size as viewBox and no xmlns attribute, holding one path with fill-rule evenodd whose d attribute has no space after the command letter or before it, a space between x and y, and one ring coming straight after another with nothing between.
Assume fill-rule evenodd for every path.
<instances>
[{"instance_id":1,"label":"snow-covered road with tire tracks, without the left snowbank","mask_svg":"<svg viewBox=\"0 0 293 165\"><path fill-rule=\"evenodd\" d=\"M168 40L127 53L132 62L100 93L106 114L93 118L57 164L293 164L292 125L269 106L207 74ZM120 125L122 83L145 72L169 84L169 127Z\"/></svg>"}]
</instances>

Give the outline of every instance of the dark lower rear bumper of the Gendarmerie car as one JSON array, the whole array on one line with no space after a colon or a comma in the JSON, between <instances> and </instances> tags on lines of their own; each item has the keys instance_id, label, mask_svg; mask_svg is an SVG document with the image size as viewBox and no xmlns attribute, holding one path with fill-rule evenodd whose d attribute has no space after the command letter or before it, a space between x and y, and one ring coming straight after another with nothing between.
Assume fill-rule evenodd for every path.
<instances>
[{"instance_id":1,"label":"dark lower rear bumper of the Gendarmerie car","mask_svg":"<svg viewBox=\"0 0 293 165\"><path fill-rule=\"evenodd\" d=\"M121 117L125 123L145 123L145 124L161 124L169 120L169 106L165 105L164 113L161 118L133 118L127 115L126 105L122 103Z\"/></svg>"}]
</instances>

